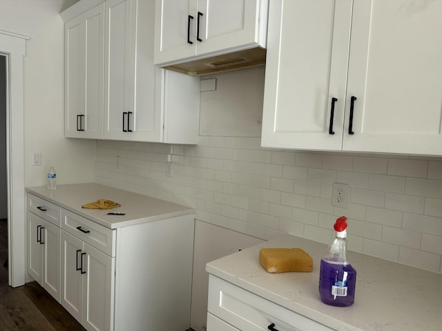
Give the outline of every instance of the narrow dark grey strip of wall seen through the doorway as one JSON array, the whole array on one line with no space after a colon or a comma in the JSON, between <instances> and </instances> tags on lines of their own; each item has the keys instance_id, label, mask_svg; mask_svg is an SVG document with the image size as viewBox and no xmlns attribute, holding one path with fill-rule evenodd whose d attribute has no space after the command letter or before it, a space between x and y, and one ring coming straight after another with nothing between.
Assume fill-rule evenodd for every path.
<instances>
[{"instance_id":1,"label":"narrow dark grey strip of wall seen through the doorway","mask_svg":"<svg viewBox=\"0 0 442 331\"><path fill-rule=\"evenodd\" d=\"M0 219L8 218L6 173L6 57L0 55Z\"/></svg>"}]
</instances>

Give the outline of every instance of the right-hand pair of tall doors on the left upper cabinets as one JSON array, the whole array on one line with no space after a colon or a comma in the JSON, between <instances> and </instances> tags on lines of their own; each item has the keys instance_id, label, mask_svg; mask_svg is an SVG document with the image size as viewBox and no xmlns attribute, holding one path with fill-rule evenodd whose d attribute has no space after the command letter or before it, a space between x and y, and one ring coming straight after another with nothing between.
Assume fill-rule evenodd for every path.
<instances>
[{"instance_id":1,"label":"right-hand pair of tall doors on the left upper cabinets","mask_svg":"<svg viewBox=\"0 0 442 331\"><path fill-rule=\"evenodd\" d=\"M153 65L154 14L153 1L106 2L106 139L162 139L164 79Z\"/></svg>"}]
</instances>

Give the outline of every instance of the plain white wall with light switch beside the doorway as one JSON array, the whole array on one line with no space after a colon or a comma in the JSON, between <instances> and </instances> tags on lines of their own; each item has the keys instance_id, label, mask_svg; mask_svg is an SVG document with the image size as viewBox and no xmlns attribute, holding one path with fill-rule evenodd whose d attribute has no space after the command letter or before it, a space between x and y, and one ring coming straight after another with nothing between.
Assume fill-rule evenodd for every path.
<instances>
[{"instance_id":1,"label":"plain white wall with light switch beside the doorway","mask_svg":"<svg viewBox=\"0 0 442 331\"><path fill-rule=\"evenodd\" d=\"M64 138L64 22L59 12L75 0L0 0L0 29L24 34L25 185L93 181L95 141ZM32 165L41 152L42 165Z\"/></svg>"}]
</instances>

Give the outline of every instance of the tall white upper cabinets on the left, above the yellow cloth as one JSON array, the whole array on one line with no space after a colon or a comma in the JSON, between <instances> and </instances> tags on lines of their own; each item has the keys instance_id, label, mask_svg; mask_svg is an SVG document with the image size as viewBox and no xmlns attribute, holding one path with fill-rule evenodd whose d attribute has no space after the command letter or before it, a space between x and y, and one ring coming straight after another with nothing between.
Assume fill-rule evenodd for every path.
<instances>
[{"instance_id":1,"label":"tall white upper cabinets on the left, above the yellow cloth","mask_svg":"<svg viewBox=\"0 0 442 331\"><path fill-rule=\"evenodd\" d=\"M77 104L82 104L84 99L80 93L81 84L77 81L83 82L85 79L81 79L82 71L79 70L65 77L66 137L197 143L200 80L196 77L181 77L175 72L164 72L164 69L153 65L155 1L102 1L99 8L103 11L100 16L103 24L99 32L95 31L95 39L91 38L97 42L90 46L90 52L94 54L95 50L102 49L99 52L101 63L97 57L88 55L84 59L79 55L84 54L85 47L82 39L77 40L81 28L71 28L77 26L77 21L84 20L86 14L75 18L70 16L88 6L87 1L90 0L75 3L65 11L67 13L62 12L61 15L67 21L66 70L74 71L72 68L77 66L95 68L93 74L87 75L86 72L86 78L95 79L92 88L96 93L90 98L93 98L97 107L88 108L95 110L99 106L99 133L90 136L85 132L75 132L78 127L80 130L89 130L88 116L85 119L70 110L74 106L78 108ZM69 34L73 36L70 39ZM98 41L103 41L102 48L97 46Z\"/></svg>"}]
</instances>

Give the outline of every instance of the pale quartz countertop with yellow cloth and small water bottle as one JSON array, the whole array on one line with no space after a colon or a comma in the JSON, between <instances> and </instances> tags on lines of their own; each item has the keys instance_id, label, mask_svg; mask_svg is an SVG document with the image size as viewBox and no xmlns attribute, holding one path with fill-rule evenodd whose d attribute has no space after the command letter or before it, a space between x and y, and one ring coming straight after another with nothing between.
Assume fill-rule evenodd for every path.
<instances>
[{"instance_id":1,"label":"pale quartz countertop with yellow cloth and small water bottle","mask_svg":"<svg viewBox=\"0 0 442 331\"><path fill-rule=\"evenodd\" d=\"M26 191L110 229L177 217L184 214L193 214L195 212L192 208L185 205L97 183L57 185L56 190L48 190L46 186L34 187L26 188ZM81 208L81 205L97 201L98 199L112 200L121 206L109 210ZM124 212L126 214L108 215L108 212Z\"/></svg>"}]
</instances>

